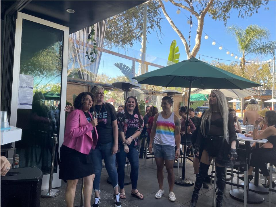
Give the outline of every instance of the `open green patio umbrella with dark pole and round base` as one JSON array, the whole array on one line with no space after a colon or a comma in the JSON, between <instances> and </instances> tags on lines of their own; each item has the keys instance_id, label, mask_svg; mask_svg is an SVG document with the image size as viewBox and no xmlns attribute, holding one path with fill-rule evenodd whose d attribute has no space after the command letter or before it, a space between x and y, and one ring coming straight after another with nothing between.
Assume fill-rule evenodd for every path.
<instances>
[{"instance_id":1,"label":"open green patio umbrella with dark pole and round base","mask_svg":"<svg viewBox=\"0 0 276 207\"><path fill-rule=\"evenodd\" d=\"M262 86L258 83L229 73L210 65L206 62L198 60L197 58L190 58L181 62L169 65L137 77L133 77L141 84L149 84L154 86L164 87L185 87L189 88L188 96L188 109L190 106L191 88L202 89L245 89L256 86ZM186 141L185 141L185 153L187 145L187 130L189 124L189 114L187 113L186 119ZM179 185L190 186L193 185L193 181L189 178L185 178L185 162L183 162L182 177L176 178L175 183Z\"/></svg>"}]
</instances>

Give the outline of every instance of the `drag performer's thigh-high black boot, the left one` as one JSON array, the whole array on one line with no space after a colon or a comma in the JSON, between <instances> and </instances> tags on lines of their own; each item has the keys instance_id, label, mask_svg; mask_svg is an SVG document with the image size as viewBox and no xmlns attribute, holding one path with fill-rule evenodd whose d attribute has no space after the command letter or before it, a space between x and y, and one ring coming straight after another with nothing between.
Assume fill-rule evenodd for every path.
<instances>
[{"instance_id":1,"label":"drag performer's thigh-high black boot, the left one","mask_svg":"<svg viewBox=\"0 0 276 207\"><path fill-rule=\"evenodd\" d=\"M195 187L193 189L193 195L192 195L192 200L190 202L190 207L196 206L196 202L198 201L198 193L202 186L202 183L204 182L204 178L205 178L206 174L208 173L209 166L210 165L206 165L206 164L200 162L199 172L196 177L196 182L195 182Z\"/></svg>"}]
</instances>

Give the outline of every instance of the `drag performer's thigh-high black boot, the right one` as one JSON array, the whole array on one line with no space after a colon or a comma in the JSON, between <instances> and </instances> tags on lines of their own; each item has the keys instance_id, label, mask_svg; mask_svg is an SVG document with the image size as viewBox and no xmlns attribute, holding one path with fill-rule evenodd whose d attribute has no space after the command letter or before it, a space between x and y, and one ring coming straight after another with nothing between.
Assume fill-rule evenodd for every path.
<instances>
[{"instance_id":1,"label":"drag performer's thigh-high black boot, the right one","mask_svg":"<svg viewBox=\"0 0 276 207\"><path fill-rule=\"evenodd\" d=\"M222 207L223 194L225 188L225 167L216 166L216 207Z\"/></svg>"}]
</instances>

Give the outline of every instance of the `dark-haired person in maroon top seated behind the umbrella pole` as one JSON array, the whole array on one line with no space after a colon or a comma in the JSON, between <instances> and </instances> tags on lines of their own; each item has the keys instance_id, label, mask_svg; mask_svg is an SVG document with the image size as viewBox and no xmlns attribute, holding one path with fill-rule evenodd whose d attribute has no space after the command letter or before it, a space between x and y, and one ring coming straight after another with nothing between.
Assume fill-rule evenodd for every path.
<instances>
[{"instance_id":1,"label":"dark-haired person in maroon top seated behind the umbrella pole","mask_svg":"<svg viewBox=\"0 0 276 207\"><path fill-rule=\"evenodd\" d=\"M180 120L180 136L181 136L181 143L184 143L185 142L185 130L186 130L186 126L185 126L185 121L186 121L186 118L187 118L187 108L186 107L180 107L179 110L178 110L178 113L179 115L181 116L181 120ZM189 125L188 125L188 131L187 133L188 134L192 134L195 130L196 130L196 127L195 125L193 124L193 121L191 119L189 119ZM191 138L191 136L190 136ZM187 141L190 141L191 140L187 140ZM189 146L187 146L187 152L186 152L186 155L189 155L190 154L190 147L192 145L190 144ZM191 149L193 149L191 147Z\"/></svg>"}]
</instances>

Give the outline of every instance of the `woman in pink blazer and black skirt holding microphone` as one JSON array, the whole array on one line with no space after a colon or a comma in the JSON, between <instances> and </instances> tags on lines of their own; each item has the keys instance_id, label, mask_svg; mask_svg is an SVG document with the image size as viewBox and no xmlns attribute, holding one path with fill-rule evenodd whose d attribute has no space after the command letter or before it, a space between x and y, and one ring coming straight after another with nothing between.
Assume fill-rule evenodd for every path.
<instances>
[{"instance_id":1,"label":"woman in pink blazer and black skirt holding microphone","mask_svg":"<svg viewBox=\"0 0 276 207\"><path fill-rule=\"evenodd\" d=\"M84 206L91 206L94 168L91 150L98 140L97 119L89 112L95 105L95 96L82 92L74 100L76 110L68 114L64 142L60 147L59 178L67 180L65 200L68 207L73 207L78 179L84 178Z\"/></svg>"}]
</instances>

